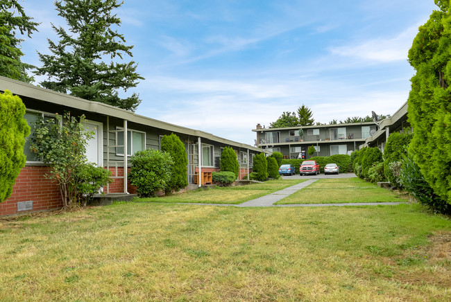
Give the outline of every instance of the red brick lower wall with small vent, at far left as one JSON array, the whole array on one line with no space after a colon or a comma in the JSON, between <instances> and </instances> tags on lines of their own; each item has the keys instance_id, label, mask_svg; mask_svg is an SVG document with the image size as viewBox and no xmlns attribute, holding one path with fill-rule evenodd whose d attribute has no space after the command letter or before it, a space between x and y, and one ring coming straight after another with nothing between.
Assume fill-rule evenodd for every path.
<instances>
[{"instance_id":1,"label":"red brick lower wall with small vent, at far left","mask_svg":"<svg viewBox=\"0 0 451 302\"><path fill-rule=\"evenodd\" d=\"M42 166L23 168L12 187L11 196L0 203L0 216L62 208L58 186L44 178L49 171L48 167ZM17 212L17 202L28 201L33 201L33 210Z\"/></svg>"}]
</instances>

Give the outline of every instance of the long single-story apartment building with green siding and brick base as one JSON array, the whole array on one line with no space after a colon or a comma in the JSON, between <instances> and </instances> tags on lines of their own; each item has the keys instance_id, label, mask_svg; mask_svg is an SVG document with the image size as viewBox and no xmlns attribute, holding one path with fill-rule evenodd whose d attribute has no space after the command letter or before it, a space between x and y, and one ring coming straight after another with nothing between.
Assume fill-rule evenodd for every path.
<instances>
[{"instance_id":1,"label":"long single-story apartment building with green siding and brick base","mask_svg":"<svg viewBox=\"0 0 451 302\"><path fill-rule=\"evenodd\" d=\"M133 193L134 188L128 184L128 158L139 150L160 150L161 138L166 134L174 133L185 143L188 157L187 179L192 186L211 183L211 172L219 170L221 152L226 146L232 147L237 154L239 179L248 178L253 157L264 151L207 132L157 121L124 109L0 76L0 91L7 89L22 98L26 106L24 118L28 125L36 121L38 116L54 118L56 114L62 115L65 112L71 112L72 116L85 115L85 127L94 131L94 138L88 142L87 158L112 172L114 182L104 188L107 194ZM12 195L0 203L0 216L62 207L56 184L44 177L49 172L49 167L35 157L29 146L28 140L24 147L26 166L15 181Z\"/></svg>"}]
</instances>

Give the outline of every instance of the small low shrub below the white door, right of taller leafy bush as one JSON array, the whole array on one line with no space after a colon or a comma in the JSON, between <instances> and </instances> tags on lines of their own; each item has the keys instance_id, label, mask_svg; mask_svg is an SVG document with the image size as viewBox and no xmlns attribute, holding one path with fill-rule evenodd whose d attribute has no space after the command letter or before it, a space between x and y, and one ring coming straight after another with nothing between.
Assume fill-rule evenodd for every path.
<instances>
[{"instance_id":1,"label":"small low shrub below the white door, right of taller leafy bush","mask_svg":"<svg viewBox=\"0 0 451 302\"><path fill-rule=\"evenodd\" d=\"M94 194L99 194L101 188L112 183L111 171L84 163L74 170L77 199L80 206L86 206L92 201Z\"/></svg>"}]
</instances>

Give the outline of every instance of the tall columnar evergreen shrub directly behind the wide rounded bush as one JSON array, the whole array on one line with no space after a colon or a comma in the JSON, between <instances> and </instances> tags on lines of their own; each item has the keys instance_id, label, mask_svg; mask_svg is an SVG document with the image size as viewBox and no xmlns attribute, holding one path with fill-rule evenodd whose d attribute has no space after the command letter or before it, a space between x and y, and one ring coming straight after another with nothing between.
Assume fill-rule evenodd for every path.
<instances>
[{"instance_id":1,"label":"tall columnar evergreen shrub directly behind the wide rounded bush","mask_svg":"<svg viewBox=\"0 0 451 302\"><path fill-rule=\"evenodd\" d=\"M164 135L161 139L161 150L169 153L173 159L172 176L164 188L166 193L188 186L188 155L185 145L176 134Z\"/></svg>"}]
</instances>

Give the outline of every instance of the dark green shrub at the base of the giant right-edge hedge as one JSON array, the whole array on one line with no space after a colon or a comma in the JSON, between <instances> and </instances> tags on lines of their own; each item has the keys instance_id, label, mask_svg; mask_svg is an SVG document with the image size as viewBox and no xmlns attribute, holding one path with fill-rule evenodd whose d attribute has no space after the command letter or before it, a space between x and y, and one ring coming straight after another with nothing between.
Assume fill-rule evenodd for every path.
<instances>
[{"instance_id":1,"label":"dark green shrub at the base of the giant right-edge hedge","mask_svg":"<svg viewBox=\"0 0 451 302\"><path fill-rule=\"evenodd\" d=\"M410 154L403 156L400 181L405 190L412 193L421 204L432 211L451 213L451 205L434 193Z\"/></svg>"}]
</instances>

